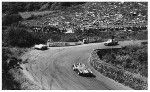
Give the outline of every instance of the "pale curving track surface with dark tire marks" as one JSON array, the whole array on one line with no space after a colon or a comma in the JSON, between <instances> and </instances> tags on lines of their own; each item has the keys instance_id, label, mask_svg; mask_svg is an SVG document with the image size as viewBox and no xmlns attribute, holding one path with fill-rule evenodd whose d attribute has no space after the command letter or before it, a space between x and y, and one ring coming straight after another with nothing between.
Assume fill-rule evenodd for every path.
<instances>
[{"instance_id":1,"label":"pale curving track surface with dark tire marks","mask_svg":"<svg viewBox=\"0 0 150 92\"><path fill-rule=\"evenodd\" d=\"M141 41L124 41L113 48L120 48L128 44ZM50 47L48 50L32 50L22 56L24 74L41 89L56 90L130 90L114 80L98 73L89 64L90 53L93 49L111 48L103 43L84 44L70 47ZM72 70L72 65L82 62L92 69L96 78L79 76Z\"/></svg>"}]
</instances>

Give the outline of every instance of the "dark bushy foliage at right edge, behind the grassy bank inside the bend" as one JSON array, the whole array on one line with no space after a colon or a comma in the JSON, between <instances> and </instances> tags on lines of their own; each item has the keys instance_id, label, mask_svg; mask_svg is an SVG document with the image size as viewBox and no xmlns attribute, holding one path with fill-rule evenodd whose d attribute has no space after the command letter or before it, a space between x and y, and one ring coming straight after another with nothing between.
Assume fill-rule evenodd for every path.
<instances>
[{"instance_id":1,"label":"dark bushy foliage at right edge, behind the grassy bank inside the bend","mask_svg":"<svg viewBox=\"0 0 150 92\"><path fill-rule=\"evenodd\" d=\"M139 73L147 77L147 45L129 45L113 54L114 56L109 53L103 55L102 60L104 60L106 63L122 67L123 69L132 73Z\"/></svg>"}]
</instances>

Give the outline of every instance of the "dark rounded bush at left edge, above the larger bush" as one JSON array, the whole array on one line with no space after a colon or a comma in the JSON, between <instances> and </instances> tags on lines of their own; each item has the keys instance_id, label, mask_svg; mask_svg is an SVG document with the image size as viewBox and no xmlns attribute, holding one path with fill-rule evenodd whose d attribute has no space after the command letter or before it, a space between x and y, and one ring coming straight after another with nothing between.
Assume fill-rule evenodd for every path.
<instances>
[{"instance_id":1,"label":"dark rounded bush at left edge, above the larger bush","mask_svg":"<svg viewBox=\"0 0 150 92\"><path fill-rule=\"evenodd\" d=\"M19 14L5 15L2 18L2 25L9 26L12 23L17 23L20 20L22 20L22 17Z\"/></svg>"}]
</instances>

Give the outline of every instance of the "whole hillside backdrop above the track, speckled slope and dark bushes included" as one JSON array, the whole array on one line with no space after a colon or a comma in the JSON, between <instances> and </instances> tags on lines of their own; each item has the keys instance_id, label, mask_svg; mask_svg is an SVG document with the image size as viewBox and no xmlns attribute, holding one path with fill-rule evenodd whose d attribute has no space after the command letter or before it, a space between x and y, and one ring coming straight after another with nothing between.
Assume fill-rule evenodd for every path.
<instances>
[{"instance_id":1,"label":"whole hillside backdrop above the track, speckled slope and dark bushes included","mask_svg":"<svg viewBox=\"0 0 150 92\"><path fill-rule=\"evenodd\" d=\"M120 38L129 40L132 36L140 40L147 38L147 2L3 2L2 5L3 38L9 38L9 35L7 37L5 33L11 26L9 32L20 30L12 32L20 33L18 37L27 43L27 38L22 36L21 30L28 31L27 34L33 38L32 45L39 42L45 43L48 39L55 40L55 38L58 38L58 41L77 41L83 38L89 40L88 37L91 37L96 39L96 42L101 39L99 40L101 42L114 34L119 37L119 40ZM47 6L48 10L44 9L44 6ZM22 10L23 8L25 9ZM30 8L35 10L28 10ZM124 29L127 31L131 29L134 32L118 32ZM143 30L146 32L139 32ZM74 31L75 34L70 34L71 36L64 34L69 31L70 33ZM13 35L11 37L10 40L3 39L3 43L11 43L10 41L18 39ZM19 44L25 42L19 41Z\"/></svg>"}]
</instances>

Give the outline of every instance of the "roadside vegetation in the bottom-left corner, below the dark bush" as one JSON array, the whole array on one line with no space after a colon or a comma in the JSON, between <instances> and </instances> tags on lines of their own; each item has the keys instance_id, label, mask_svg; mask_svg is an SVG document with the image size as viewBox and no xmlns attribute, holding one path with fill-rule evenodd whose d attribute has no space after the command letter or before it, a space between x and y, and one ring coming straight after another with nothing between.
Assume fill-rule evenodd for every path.
<instances>
[{"instance_id":1,"label":"roadside vegetation in the bottom-left corner, below the dark bush","mask_svg":"<svg viewBox=\"0 0 150 92\"><path fill-rule=\"evenodd\" d=\"M2 73L2 90L37 90L37 85L28 80L21 70L13 68Z\"/></svg>"}]
</instances>

